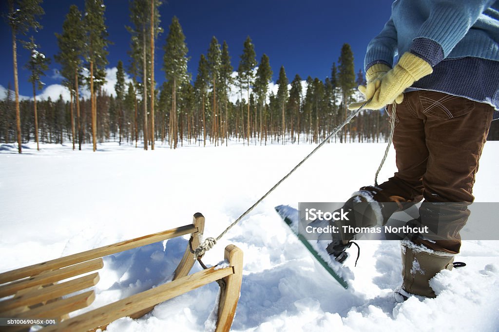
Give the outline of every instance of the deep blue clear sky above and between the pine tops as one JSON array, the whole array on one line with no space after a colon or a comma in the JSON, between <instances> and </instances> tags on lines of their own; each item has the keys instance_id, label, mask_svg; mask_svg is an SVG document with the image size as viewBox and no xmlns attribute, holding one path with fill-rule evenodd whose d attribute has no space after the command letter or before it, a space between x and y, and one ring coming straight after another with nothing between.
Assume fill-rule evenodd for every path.
<instances>
[{"instance_id":1,"label":"deep blue clear sky above and between the pine tops","mask_svg":"<svg viewBox=\"0 0 499 332\"><path fill-rule=\"evenodd\" d=\"M7 9L6 2L0 1L2 12ZM81 11L84 0L45 0L45 15L41 19L43 29L35 33L35 40L41 45L40 51L52 58L47 77L43 82L49 86L59 84L61 79L55 75L59 67L53 60L58 52L54 33L60 33L62 22L71 4ZM128 23L128 0L104 0L106 4L106 24L109 40L109 64L115 67L118 60L125 66L129 60L130 34L125 29ZM270 59L270 66L277 79L279 68L284 66L288 79L295 74L302 79L307 76L323 80L330 76L333 62L337 62L341 46L352 46L356 72L363 69L363 59L369 40L374 37L390 17L392 0L165 0L160 8L161 26L165 32L156 42L155 78L159 85L164 81L163 46L168 26L174 15L179 18L186 35L189 48L189 71L193 78L202 53L207 52L212 36L222 44L229 45L232 65L237 69L239 56L243 50L246 36L253 40L256 58L259 62L263 53ZM2 19L0 23L2 50L0 60L3 64L0 85L13 87L11 32ZM32 95L27 82L28 72L22 68L29 53L18 45L19 93Z\"/></svg>"}]
</instances>

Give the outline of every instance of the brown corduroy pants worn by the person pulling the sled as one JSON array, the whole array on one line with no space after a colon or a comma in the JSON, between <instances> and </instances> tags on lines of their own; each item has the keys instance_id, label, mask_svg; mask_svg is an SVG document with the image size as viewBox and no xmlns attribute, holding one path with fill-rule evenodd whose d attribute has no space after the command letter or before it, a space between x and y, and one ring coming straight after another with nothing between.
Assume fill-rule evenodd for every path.
<instances>
[{"instance_id":1,"label":"brown corduroy pants worn by the person pulling the sled","mask_svg":"<svg viewBox=\"0 0 499 332\"><path fill-rule=\"evenodd\" d=\"M467 204L474 201L475 174L493 111L490 105L440 92L405 94L396 107L393 135L398 171L378 187L361 190L372 192L378 202L396 202L401 207L424 199L420 222L431 225L438 216L439 232L443 228L447 236L445 240L413 241L436 251L458 253L459 230L470 214ZM442 202L461 204L455 208L438 204Z\"/></svg>"}]
</instances>

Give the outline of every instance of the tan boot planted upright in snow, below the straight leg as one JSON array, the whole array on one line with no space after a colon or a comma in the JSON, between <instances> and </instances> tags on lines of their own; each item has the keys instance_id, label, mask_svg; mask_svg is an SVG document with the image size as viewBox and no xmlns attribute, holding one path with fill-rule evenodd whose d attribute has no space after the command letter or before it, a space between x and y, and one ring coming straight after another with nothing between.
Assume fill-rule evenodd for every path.
<instances>
[{"instance_id":1,"label":"tan boot planted upright in snow, below the straight leg","mask_svg":"<svg viewBox=\"0 0 499 332\"><path fill-rule=\"evenodd\" d=\"M402 242L402 289L408 293L435 298L429 281L444 269L452 270L454 255L433 251L409 241Z\"/></svg>"}]
</instances>

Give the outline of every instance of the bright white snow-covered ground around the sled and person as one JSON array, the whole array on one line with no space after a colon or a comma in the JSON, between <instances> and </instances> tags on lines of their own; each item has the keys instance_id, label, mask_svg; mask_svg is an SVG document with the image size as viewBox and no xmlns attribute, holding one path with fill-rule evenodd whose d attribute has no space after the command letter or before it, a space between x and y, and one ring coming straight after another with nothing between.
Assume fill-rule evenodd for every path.
<instances>
[{"instance_id":1,"label":"bright white snow-covered ground around the sled and person","mask_svg":"<svg viewBox=\"0 0 499 332\"><path fill-rule=\"evenodd\" d=\"M69 144L0 146L0 272L157 232L206 217L217 236L314 146L233 143L229 147L157 145L143 151L117 143L72 151ZM468 266L432 280L438 297L397 304L401 283L397 241L361 241L355 280L334 281L287 229L274 206L341 202L372 184L385 144L327 144L205 256L223 259L233 243L244 251L234 331L498 331L499 241L465 241L457 258ZM499 142L488 142L474 194L497 201ZM381 172L393 174L391 151ZM168 280L186 239L105 257L91 308ZM195 265L194 271L200 270ZM108 331L203 331L218 292L211 284L158 305L143 319L125 318ZM207 322L208 320L208 322Z\"/></svg>"}]
</instances>

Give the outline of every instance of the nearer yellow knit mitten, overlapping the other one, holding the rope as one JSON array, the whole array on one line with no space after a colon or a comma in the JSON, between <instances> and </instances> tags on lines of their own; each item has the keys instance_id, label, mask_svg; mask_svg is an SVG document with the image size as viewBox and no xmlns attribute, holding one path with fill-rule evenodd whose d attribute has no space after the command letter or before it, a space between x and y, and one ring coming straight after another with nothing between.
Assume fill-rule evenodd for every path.
<instances>
[{"instance_id":1,"label":"nearer yellow knit mitten, overlapping the other one, holding the rope","mask_svg":"<svg viewBox=\"0 0 499 332\"><path fill-rule=\"evenodd\" d=\"M433 73L433 68L428 62L410 52L404 53L397 65L381 77L379 86L373 86L372 89L374 89L374 93L372 94L372 99L364 106L364 109L379 110L385 105L392 104L394 101L396 103L401 103L403 97L400 98L399 95L414 82L431 73ZM367 91L366 89L366 98L370 93L371 91ZM367 100L369 100L369 98L367 98ZM364 103L365 102L350 104L348 109L357 110Z\"/></svg>"}]
</instances>

